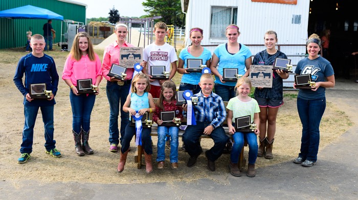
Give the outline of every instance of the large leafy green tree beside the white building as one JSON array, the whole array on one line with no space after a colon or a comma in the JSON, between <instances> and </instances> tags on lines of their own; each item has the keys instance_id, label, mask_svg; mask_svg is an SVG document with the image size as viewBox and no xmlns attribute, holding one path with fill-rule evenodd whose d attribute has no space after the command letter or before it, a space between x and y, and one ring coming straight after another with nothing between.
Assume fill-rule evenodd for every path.
<instances>
[{"instance_id":1,"label":"large leafy green tree beside the white building","mask_svg":"<svg viewBox=\"0 0 358 200\"><path fill-rule=\"evenodd\" d=\"M146 17L162 16L155 21L164 21L166 24L173 24L177 27L183 27L185 15L182 13L180 0L146 0L142 5L147 8L144 11L149 12Z\"/></svg>"}]
</instances>

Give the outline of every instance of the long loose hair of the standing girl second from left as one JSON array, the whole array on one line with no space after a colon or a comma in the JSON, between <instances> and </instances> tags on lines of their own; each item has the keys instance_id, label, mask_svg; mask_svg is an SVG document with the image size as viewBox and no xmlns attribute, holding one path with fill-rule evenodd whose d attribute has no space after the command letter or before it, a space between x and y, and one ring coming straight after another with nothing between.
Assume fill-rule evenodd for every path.
<instances>
[{"instance_id":1,"label":"long loose hair of the standing girl second from left","mask_svg":"<svg viewBox=\"0 0 358 200\"><path fill-rule=\"evenodd\" d=\"M71 52L69 55L71 55L72 59L75 59L77 61L81 60L82 52L81 52L80 48L78 47L80 37L87 38L87 41L88 41L87 55L88 55L89 60L94 61L96 59L95 51L93 50L91 38L89 38L89 35L86 32L79 32L76 34L75 39L73 40Z\"/></svg>"}]
</instances>

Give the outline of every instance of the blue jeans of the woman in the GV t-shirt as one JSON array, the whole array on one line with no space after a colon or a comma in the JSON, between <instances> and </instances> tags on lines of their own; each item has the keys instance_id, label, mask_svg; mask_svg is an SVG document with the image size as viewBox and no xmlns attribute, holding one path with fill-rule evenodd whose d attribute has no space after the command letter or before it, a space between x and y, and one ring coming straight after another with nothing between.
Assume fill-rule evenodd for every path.
<instances>
[{"instance_id":1,"label":"blue jeans of the woman in the GV t-shirt","mask_svg":"<svg viewBox=\"0 0 358 200\"><path fill-rule=\"evenodd\" d=\"M320 122L326 109L326 97L305 100L297 98L297 110L302 123L301 153L303 160L316 162L320 145Z\"/></svg>"}]
</instances>

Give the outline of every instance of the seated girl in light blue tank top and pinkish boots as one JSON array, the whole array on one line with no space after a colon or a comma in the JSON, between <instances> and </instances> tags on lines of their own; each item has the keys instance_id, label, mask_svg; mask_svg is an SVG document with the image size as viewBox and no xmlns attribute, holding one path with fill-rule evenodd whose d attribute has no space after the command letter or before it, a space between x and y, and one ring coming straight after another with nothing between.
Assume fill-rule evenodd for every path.
<instances>
[{"instance_id":1,"label":"seated girl in light blue tank top and pinkish boots","mask_svg":"<svg viewBox=\"0 0 358 200\"><path fill-rule=\"evenodd\" d=\"M150 93L148 93L148 91L150 90L148 76L144 73L138 73L135 77L133 77L131 86L131 93L128 94L126 102L123 105L123 111L129 112L130 116L136 115L137 112L139 115L143 115L146 112L148 114L154 112L155 105L153 97ZM130 141L132 140L136 132L136 127L131 126L130 123L125 128L124 138L121 142L121 158L117 167L118 172L122 172L124 170ZM151 164L151 156L153 150L151 145L150 132L151 128L145 126L142 127L141 139L145 155L145 171L147 173L151 173L153 171L153 167Z\"/></svg>"}]
</instances>

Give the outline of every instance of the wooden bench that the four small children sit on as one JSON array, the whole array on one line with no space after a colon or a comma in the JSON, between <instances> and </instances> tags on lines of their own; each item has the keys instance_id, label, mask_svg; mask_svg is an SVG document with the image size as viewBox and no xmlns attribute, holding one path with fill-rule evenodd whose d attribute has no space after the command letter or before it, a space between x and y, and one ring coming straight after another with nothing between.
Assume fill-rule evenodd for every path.
<instances>
[{"instance_id":1,"label":"wooden bench that the four small children sit on","mask_svg":"<svg viewBox=\"0 0 358 200\"><path fill-rule=\"evenodd\" d=\"M155 103L156 101L158 101L158 98L154 98L153 100L154 100L154 103ZM225 108L226 108L226 106L228 105L228 102L224 102L224 105L225 105ZM228 109L227 109L227 111L228 111ZM149 118L152 119L152 113L150 114ZM186 118L184 118L183 122L186 122ZM225 121L222 123L222 127L225 130L225 134L227 136L229 136L230 139L233 139L232 135L229 134L229 128L228 128L227 119L225 119ZM179 130L178 136L183 137L184 132L185 131L183 131L183 130ZM150 132L150 136L158 137L158 124L156 124L156 123L153 124L152 130ZM202 136L200 136L200 138L211 138L211 137L209 135L204 135L203 134ZM154 144L154 145L156 145L156 144ZM244 143L244 146L248 146L248 143L246 141ZM242 147L241 153L239 155L239 169L245 167L245 165L246 165L246 160L243 157L243 148L244 148L244 146ZM135 153L135 163L137 163L137 168L138 169L140 169L142 166L144 166L144 164L142 162L143 161L142 160L143 155L144 155L143 147L141 145L138 145L138 147L136 149L136 153Z\"/></svg>"}]
</instances>

